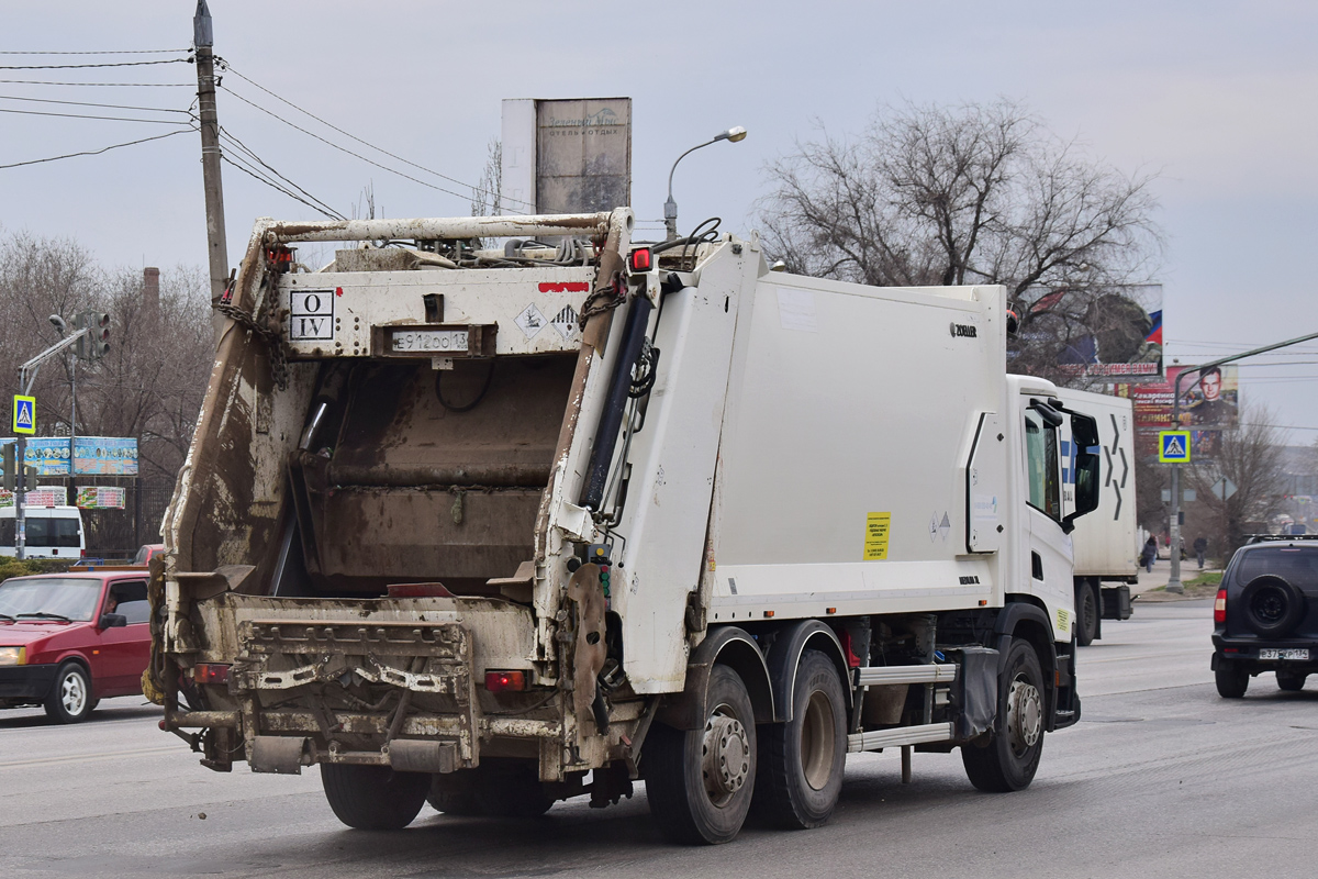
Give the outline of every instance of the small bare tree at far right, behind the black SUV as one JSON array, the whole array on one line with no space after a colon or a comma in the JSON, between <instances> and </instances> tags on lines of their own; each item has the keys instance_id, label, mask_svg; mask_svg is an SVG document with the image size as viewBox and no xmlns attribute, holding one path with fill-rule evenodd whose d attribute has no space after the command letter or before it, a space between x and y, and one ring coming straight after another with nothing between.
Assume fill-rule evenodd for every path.
<instances>
[{"instance_id":1,"label":"small bare tree at far right, behind the black SUV","mask_svg":"<svg viewBox=\"0 0 1318 879\"><path fill-rule=\"evenodd\" d=\"M1240 427L1223 431L1218 456L1190 467L1189 485L1207 511L1223 559L1244 544L1246 535L1267 530L1268 521L1281 510L1284 438L1272 422L1273 414L1265 406L1242 409ZM1213 485L1223 477L1236 489L1226 499L1213 493Z\"/></svg>"}]
</instances>

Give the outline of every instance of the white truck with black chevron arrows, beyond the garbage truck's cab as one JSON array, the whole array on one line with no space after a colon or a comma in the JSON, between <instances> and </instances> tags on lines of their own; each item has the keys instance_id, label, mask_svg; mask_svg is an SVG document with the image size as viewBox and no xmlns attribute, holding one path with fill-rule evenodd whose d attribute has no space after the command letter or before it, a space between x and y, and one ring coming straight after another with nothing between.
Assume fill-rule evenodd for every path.
<instances>
[{"instance_id":1,"label":"white truck with black chevron arrows, beyond the garbage truck's cab","mask_svg":"<svg viewBox=\"0 0 1318 879\"><path fill-rule=\"evenodd\" d=\"M1060 387L1057 397L1098 420L1103 456L1099 506L1075 522L1075 642L1103 637L1103 619L1130 619L1139 582L1140 534L1135 503L1135 420L1131 401ZM1068 452L1069 453L1069 452ZM1068 486L1072 478L1068 472ZM1069 490L1069 488L1068 488Z\"/></svg>"}]
</instances>

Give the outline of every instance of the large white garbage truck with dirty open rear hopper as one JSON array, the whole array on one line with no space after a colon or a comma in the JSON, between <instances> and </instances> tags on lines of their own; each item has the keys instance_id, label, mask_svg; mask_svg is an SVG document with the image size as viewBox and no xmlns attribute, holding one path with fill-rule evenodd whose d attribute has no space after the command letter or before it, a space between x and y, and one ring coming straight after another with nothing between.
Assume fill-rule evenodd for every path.
<instances>
[{"instance_id":1,"label":"large white garbage truck with dirty open rear hopper","mask_svg":"<svg viewBox=\"0 0 1318 879\"><path fill-rule=\"evenodd\" d=\"M1006 374L1003 289L633 223L257 223L153 579L149 683L204 766L319 764L372 829L643 779L691 843L753 800L822 824L847 752L1029 784L1079 717L1099 457Z\"/></svg>"}]
</instances>

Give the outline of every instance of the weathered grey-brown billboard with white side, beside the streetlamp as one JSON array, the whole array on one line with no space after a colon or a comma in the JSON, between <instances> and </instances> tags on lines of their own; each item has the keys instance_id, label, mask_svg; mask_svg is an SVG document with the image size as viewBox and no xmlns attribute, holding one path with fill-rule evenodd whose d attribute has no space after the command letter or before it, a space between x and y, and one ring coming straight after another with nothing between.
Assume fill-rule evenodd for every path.
<instances>
[{"instance_id":1,"label":"weathered grey-brown billboard with white side, beside the streetlamp","mask_svg":"<svg viewBox=\"0 0 1318 879\"><path fill-rule=\"evenodd\" d=\"M631 204L631 99L503 101L505 213L590 213Z\"/></svg>"}]
</instances>

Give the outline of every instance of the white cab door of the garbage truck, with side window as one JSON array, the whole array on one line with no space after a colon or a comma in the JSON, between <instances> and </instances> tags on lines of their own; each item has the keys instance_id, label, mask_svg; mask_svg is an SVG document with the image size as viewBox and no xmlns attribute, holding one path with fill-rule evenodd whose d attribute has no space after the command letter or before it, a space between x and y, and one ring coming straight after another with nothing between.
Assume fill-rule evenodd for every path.
<instances>
[{"instance_id":1,"label":"white cab door of the garbage truck, with side window","mask_svg":"<svg viewBox=\"0 0 1318 879\"><path fill-rule=\"evenodd\" d=\"M1027 398L1028 399L1028 398ZM1062 531L1065 419L1056 410L1023 406L1029 518L1029 586L1048 606L1056 638L1070 637L1074 617L1073 547Z\"/></svg>"}]
</instances>

